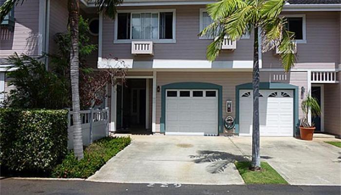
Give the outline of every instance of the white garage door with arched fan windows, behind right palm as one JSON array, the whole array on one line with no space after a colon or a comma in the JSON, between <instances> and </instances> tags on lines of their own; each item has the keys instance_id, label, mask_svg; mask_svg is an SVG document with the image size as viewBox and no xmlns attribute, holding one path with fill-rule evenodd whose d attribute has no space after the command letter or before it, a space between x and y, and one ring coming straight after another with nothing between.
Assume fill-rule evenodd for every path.
<instances>
[{"instance_id":1,"label":"white garage door with arched fan windows, behind right palm","mask_svg":"<svg viewBox=\"0 0 341 195\"><path fill-rule=\"evenodd\" d=\"M252 90L240 90L240 135L252 135ZM261 136L293 136L293 91L260 90Z\"/></svg>"}]
</instances>

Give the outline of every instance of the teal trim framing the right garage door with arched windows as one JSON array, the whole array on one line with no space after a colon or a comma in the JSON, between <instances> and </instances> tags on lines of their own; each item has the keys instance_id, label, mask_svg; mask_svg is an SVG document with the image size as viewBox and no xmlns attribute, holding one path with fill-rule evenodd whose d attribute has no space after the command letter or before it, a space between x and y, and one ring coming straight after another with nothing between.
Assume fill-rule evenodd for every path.
<instances>
[{"instance_id":1,"label":"teal trim framing the right garage door with arched windows","mask_svg":"<svg viewBox=\"0 0 341 195\"><path fill-rule=\"evenodd\" d=\"M245 83L236 86L236 117L235 117L235 133L239 134L239 91L241 89L252 89L252 83ZM259 84L259 89L289 89L294 91L294 129L293 135L296 136L299 133L299 113L298 113L298 104L299 104L299 90L298 86L287 84L287 83L278 83L278 82L261 82Z\"/></svg>"}]
</instances>

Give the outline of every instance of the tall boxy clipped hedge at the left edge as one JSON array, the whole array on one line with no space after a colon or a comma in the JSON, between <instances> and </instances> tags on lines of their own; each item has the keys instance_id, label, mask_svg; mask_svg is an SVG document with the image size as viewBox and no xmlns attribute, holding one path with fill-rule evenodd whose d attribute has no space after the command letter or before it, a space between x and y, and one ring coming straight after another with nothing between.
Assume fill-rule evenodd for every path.
<instances>
[{"instance_id":1,"label":"tall boxy clipped hedge at the left edge","mask_svg":"<svg viewBox=\"0 0 341 195\"><path fill-rule=\"evenodd\" d=\"M0 164L48 173L67 154L67 110L0 109Z\"/></svg>"}]
</instances>

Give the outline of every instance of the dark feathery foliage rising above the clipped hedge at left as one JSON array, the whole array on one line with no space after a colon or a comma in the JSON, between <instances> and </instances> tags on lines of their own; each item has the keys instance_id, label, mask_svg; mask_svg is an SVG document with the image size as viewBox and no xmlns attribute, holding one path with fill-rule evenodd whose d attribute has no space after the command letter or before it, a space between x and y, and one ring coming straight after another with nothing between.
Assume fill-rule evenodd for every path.
<instances>
[{"instance_id":1,"label":"dark feathery foliage rising above the clipped hedge at left","mask_svg":"<svg viewBox=\"0 0 341 195\"><path fill-rule=\"evenodd\" d=\"M61 109L68 105L67 80L47 71L42 60L15 53L8 61L16 70L6 73L8 85L14 86L4 102L6 106Z\"/></svg>"}]
</instances>

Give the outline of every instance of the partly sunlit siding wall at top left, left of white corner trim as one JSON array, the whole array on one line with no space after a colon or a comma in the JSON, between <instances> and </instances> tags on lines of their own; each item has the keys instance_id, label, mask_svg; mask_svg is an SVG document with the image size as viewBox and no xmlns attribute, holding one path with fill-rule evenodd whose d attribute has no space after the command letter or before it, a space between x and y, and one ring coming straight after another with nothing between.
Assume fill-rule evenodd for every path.
<instances>
[{"instance_id":1,"label":"partly sunlit siding wall at top left, left of white corner trim","mask_svg":"<svg viewBox=\"0 0 341 195\"><path fill-rule=\"evenodd\" d=\"M0 57L18 54L38 55L39 0L15 7L14 32L0 30Z\"/></svg>"}]
</instances>

